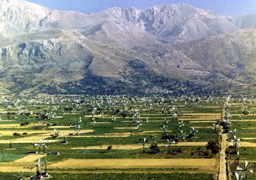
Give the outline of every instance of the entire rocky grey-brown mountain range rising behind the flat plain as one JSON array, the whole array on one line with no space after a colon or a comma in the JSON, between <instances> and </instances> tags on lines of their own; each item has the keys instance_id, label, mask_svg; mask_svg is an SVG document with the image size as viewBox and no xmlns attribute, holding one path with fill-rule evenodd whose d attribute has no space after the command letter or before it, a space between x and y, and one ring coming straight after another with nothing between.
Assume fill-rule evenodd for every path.
<instances>
[{"instance_id":1,"label":"entire rocky grey-brown mountain range rising behind the flat plain","mask_svg":"<svg viewBox=\"0 0 256 180\"><path fill-rule=\"evenodd\" d=\"M5 93L212 93L254 87L256 30L244 29L254 26L253 18L186 4L82 14L23 0L0 0L0 14Z\"/></svg>"}]
</instances>

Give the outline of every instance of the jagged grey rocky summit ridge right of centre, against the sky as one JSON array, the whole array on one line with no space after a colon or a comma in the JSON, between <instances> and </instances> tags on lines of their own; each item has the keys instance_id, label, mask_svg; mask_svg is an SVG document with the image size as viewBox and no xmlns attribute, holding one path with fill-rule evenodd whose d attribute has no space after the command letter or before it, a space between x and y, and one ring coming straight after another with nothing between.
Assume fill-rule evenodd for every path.
<instances>
[{"instance_id":1,"label":"jagged grey rocky summit ridge right of centre, against the sky","mask_svg":"<svg viewBox=\"0 0 256 180\"><path fill-rule=\"evenodd\" d=\"M187 40L238 30L226 17L187 4L155 6L144 11L109 8L91 15L131 22L159 37L183 37Z\"/></svg>"}]
</instances>

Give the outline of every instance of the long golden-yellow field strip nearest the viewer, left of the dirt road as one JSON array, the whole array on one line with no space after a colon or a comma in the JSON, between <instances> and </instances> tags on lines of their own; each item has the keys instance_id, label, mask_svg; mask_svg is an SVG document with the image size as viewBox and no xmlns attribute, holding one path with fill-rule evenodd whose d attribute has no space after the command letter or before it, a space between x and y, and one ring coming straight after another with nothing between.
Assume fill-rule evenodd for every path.
<instances>
[{"instance_id":1,"label":"long golden-yellow field strip nearest the viewer, left of the dirt road","mask_svg":"<svg viewBox=\"0 0 256 180\"><path fill-rule=\"evenodd\" d=\"M66 160L50 165L50 168L199 168L215 171L215 159L90 159Z\"/></svg>"}]
</instances>

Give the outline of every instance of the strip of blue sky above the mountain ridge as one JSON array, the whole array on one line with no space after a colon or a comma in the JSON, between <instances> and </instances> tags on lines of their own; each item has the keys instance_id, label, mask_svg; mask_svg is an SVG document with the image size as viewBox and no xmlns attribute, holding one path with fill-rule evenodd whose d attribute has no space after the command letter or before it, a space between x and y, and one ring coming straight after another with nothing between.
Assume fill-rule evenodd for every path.
<instances>
[{"instance_id":1,"label":"strip of blue sky above the mountain ridge","mask_svg":"<svg viewBox=\"0 0 256 180\"><path fill-rule=\"evenodd\" d=\"M187 3L210 9L221 15L256 14L256 0L27 0L51 9L82 13L98 12L109 7L146 9L155 5Z\"/></svg>"}]
</instances>

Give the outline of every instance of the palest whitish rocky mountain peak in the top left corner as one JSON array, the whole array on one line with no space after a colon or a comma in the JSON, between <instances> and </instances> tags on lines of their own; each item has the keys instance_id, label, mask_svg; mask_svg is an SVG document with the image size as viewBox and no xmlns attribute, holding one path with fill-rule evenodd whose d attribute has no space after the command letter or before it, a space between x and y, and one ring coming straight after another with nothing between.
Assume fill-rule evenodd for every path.
<instances>
[{"instance_id":1,"label":"palest whitish rocky mountain peak in the top left corner","mask_svg":"<svg viewBox=\"0 0 256 180\"><path fill-rule=\"evenodd\" d=\"M73 11L51 10L23 0L0 0L0 34L12 37L49 29L80 29L104 19Z\"/></svg>"}]
</instances>

